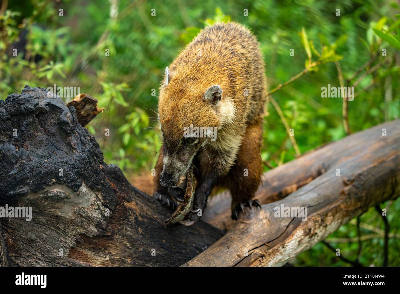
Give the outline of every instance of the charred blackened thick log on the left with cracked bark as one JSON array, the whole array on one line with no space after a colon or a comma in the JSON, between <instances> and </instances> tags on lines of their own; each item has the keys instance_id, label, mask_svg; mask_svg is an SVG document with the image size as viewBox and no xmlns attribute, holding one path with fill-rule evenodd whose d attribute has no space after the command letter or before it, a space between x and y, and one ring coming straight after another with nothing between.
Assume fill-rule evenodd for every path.
<instances>
[{"instance_id":1,"label":"charred blackened thick log on the left with cracked bark","mask_svg":"<svg viewBox=\"0 0 400 294\"><path fill-rule=\"evenodd\" d=\"M75 108L46 93L0 100L0 206L32 208L30 221L0 218L2 265L174 266L223 235L204 222L166 228L171 212L104 163Z\"/></svg>"}]
</instances>

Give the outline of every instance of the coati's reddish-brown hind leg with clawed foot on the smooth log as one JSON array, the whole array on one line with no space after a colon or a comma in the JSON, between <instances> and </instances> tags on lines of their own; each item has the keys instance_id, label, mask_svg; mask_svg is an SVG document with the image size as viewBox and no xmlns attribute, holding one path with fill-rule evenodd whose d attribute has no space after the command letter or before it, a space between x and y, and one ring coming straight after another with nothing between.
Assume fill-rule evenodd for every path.
<instances>
[{"instance_id":1,"label":"coati's reddish-brown hind leg with clawed foot on the smooth log","mask_svg":"<svg viewBox=\"0 0 400 294\"><path fill-rule=\"evenodd\" d=\"M261 146L262 146L262 118L256 124L247 127L236 157L234 166L230 169L227 179L228 188L232 195L232 219L246 206L258 206L257 200L252 200L261 181Z\"/></svg>"}]
</instances>

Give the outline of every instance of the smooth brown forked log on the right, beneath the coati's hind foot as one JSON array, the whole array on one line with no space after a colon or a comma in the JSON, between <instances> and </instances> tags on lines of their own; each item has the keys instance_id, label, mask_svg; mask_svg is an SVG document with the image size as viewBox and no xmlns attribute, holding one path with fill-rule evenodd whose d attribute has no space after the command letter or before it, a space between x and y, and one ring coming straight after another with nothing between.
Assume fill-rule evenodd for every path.
<instances>
[{"instance_id":1,"label":"smooth brown forked log on the right, beneath the coati's hind foot","mask_svg":"<svg viewBox=\"0 0 400 294\"><path fill-rule=\"evenodd\" d=\"M382 136L382 129L387 136ZM400 120L300 156L267 172L263 182L258 199L276 202L262 205L262 210L246 208L226 235L186 266L282 265L368 208L396 198L400 194ZM293 193L281 199L289 192ZM212 211L208 221L220 227L227 224L221 199L206 209ZM274 209L282 205L307 207L307 220L276 217ZM218 209L220 217L215 216Z\"/></svg>"}]
</instances>

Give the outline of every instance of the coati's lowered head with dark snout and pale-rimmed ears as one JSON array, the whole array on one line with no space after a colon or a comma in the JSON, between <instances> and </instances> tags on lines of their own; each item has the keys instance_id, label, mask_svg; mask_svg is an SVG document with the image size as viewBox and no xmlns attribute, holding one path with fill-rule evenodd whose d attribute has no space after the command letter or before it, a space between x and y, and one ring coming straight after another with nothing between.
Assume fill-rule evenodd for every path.
<instances>
[{"instance_id":1,"label":"coati's lowered head with dark snout and pale-rimmed ears","mask_svg":"<svg viewBox=\"0 0 400 294\"><path fill-rule=\"evenodd\" d=\"M190 134L185 130L194 127L210 127L218 130L224 122L224 100L222 88L217 84L199 84L197 78L185 75L171 75L165 70L164 82L160 88L158 113L164 137L163 170L160 184L176 186L180 176L186 174L194 156L202 146L207 147L210 137L216 134ZM218 139L217 139L218 140Z\"/></svg>"}]
</instances>

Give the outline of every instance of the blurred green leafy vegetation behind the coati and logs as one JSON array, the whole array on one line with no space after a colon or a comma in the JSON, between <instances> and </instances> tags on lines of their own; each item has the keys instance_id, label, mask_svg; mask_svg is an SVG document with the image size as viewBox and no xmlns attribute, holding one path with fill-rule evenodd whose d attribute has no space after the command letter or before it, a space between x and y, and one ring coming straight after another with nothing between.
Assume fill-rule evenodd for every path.
<instances>
[{"instance_id":1,"label":"blurred green leafy vegetation behind the coati and logs","mask_svg":"<svg viewBox=\"0 0 400 294\"><path fill-rule=\"evenodd\" d=\"M151 15L152 9L156 16ZM296 144L304 153L346 136L342 99L321 97L322 86L340 85L340 70L344 84L356 86L357 96L348 103L351 132L399 117L399 13L394 0L3 0L0 98L20 92L25 84L79 86L105 108L88 128L106 161L118 164L128 176L150 172L161 144L153 128L157 97L152 96L152 89L158 94L164 68L201 28L234 20L251 28L258 38L270 89L308 68L272 95L281 115L272 104L267 106L270 115L265 119L262 158L268 170L294 159ZM371 59L364 70L362 66ZM352 78L359 68L363 71ZM296 144L284 121L295 130ZM104 136L106 128L109 137ZM399 266L400 220L396 216L400 201L383 206L388 209L394 237L389 241L389 265ZM361 251L355 222L329 236L329 244L365 266L382 265L382 217L374 209L361 216L360 233L367 239ZM292 264L349 265L322 242Z\"/></svg>"}]
</instances>

